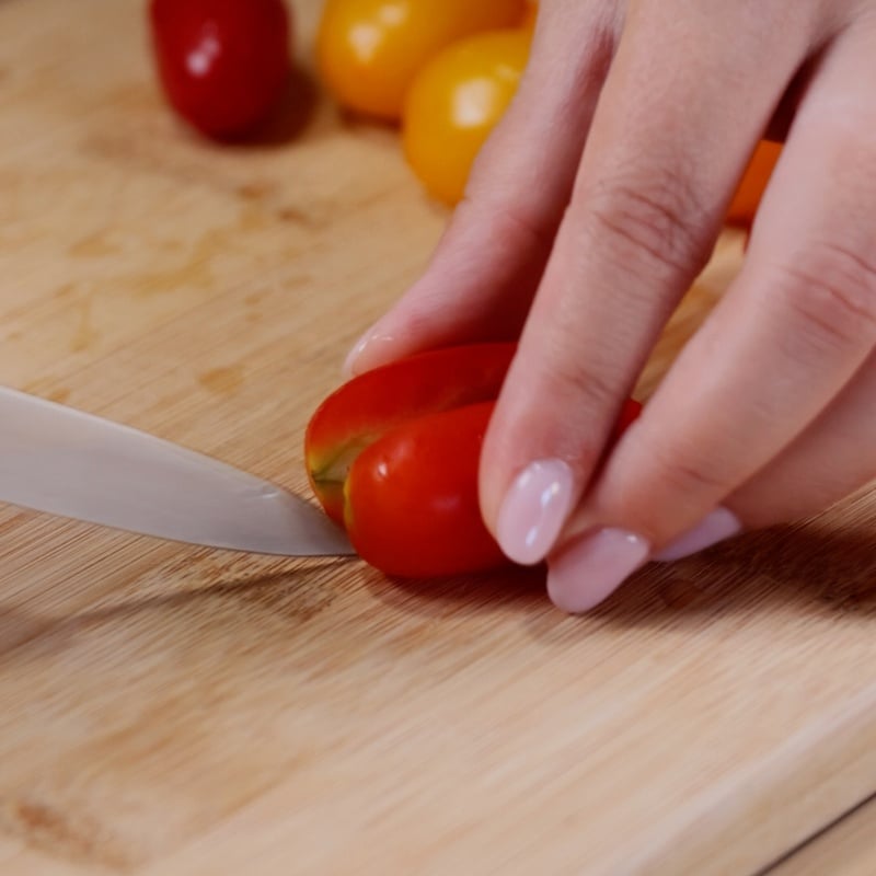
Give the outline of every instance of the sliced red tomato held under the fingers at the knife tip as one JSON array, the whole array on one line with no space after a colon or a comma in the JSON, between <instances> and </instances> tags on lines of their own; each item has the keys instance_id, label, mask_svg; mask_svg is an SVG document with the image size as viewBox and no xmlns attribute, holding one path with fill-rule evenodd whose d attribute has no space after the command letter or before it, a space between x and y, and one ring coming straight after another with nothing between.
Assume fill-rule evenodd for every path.
<instances>
[{"instance_id":1,"label":"sliced red tomato held under the fingers at the knife tip","mask_svg":"<svg viewBox=\"0 0 876 876\"><path fill-rule=\"evenodd\" d=\"M412 356L332 393L308 425L313 491L359 555L390 575L481 572L508 561L481 519L481 445L515 344ZM641 411L627 401L612 440Z\"/></svg>"}]
</instances>

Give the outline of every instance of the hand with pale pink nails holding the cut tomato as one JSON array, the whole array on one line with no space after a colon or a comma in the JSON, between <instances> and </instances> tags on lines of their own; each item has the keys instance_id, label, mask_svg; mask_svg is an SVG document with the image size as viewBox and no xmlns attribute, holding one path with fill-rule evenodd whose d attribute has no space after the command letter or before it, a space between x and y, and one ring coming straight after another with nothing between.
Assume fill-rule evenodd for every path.
<instances>
[{"instance_id":1,"label":"hand with pale pink nails holding the cut tomato","mask_svg":"<svg viewBox=\"0 0 876 876\"><path fill-rule=\"evenodd\" d=\"M481 505L561 608L876 476L874 49L876 0L543 0L465 200L349 362L520 336ZM602 460L768 130L742 270Z\"/></svg>"}]
</instances>

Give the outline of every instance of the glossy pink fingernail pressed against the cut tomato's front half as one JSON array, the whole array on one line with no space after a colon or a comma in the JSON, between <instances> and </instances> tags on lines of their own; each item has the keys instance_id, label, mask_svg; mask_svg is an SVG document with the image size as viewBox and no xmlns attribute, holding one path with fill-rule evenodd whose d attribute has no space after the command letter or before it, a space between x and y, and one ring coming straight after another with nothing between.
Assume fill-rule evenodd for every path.
<instances>
[{"instance_id":1,"label":"glossy pink fingernail pressed against the cut tomato's front half","mask_svg":"<svg viewBox=\"0 0 876 876\"><path fill-rule=\"evenodd\" d=\"M517 475L496 520L496 539L515 563L544 560L573 502L572 469L562 460L533 462Z\"/></svg>"}]
</instances>

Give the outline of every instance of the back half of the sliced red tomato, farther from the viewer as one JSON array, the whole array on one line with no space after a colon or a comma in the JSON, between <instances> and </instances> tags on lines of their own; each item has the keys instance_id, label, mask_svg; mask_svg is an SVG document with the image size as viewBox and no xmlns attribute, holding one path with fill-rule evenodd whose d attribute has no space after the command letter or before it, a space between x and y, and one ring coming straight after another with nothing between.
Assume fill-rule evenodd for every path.
<instances>
[{"instance_id":1,"label":"back half of the sliced red tomato, farther from the viewer","mask_svg":"<svg viewBox=\"0 0 876 876\"><path fill-rule=\"evenodd\" d=\"M496 399L517 344L446 347L366 371L328 395L304 436L310 485L325 512L344 518L353 460L381 435L437 411Z\"/></svg>"}]
</instances>

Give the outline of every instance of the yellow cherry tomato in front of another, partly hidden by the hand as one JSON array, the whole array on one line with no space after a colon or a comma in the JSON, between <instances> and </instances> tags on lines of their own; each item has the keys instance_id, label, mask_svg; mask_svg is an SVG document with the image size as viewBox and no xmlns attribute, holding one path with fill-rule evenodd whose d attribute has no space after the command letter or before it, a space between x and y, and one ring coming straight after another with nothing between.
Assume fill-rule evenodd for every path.
<instances>
[{"instance_id":1,"label":"yellow cherry tomato in front of another, partly hidden by the hand","mask_svg":"<svg viewBox=\"0 0 876 876\"><path fill-rule=\"evenodd\" d=\"M517 92L532 33L514 28L461 39L417 74L405 100L405 158L446 204L462 197L472 162Z\"/></svg>"}]
</instances>

